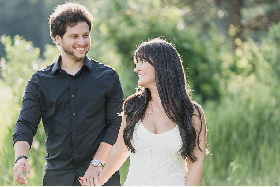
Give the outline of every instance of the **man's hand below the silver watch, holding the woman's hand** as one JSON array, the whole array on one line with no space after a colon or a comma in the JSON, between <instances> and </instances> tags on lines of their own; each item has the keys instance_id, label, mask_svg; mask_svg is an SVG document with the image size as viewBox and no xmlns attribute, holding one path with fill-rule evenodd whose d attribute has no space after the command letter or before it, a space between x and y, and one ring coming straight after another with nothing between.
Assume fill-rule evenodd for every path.
<instances>
[{"instance_id":1,"label":"man's hand below the silver watch, holding the woman's hand","mask_svg":"<svg viewBox=\"0 0 280 187\"><path fill-rule=\"evenodd\" d=\"M89 165L83 177L83 186L98 186L98 175L101 173L102 167Z\"/></svg>"}]
</instances>

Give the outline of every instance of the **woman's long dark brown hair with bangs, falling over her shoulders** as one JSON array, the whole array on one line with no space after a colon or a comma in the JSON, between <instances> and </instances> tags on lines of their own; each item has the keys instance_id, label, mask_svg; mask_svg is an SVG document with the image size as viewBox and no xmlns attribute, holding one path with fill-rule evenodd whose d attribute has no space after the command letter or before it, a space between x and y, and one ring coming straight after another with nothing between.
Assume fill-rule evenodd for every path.
<instances>
[{"instance_id":1,"label":"woman's long dark brown hair with bangs, falling over her shoulders","mask_svg":"<svg viewBox=\"0 0 280 187\"><path fill-rule=\"evenodd\" d=\"M197 158L193 152L196 145L199 146L199 136L203 128L202 120L205 119L203 110L200 110L200 106L190 97L190 90L179 53L170 43L161 38L155 38L138 46L134 53L134 63L136 65L138 64L137 57L145 59L155 68L156 86L161 104L169 119L179 126L183 141L180 149L182 151L181 156L195 162ZM150 90L138 87L137 92L129 96L123 104L123 115L126 115L127 122L123 130L123 139L127 149L130 149L133 153L135 149L131 140L134 128L140 119L143 120L150 100ZM194 110L197 111L198 115L194 114ZM192 124L193 115L200 118L198 135ZM202 151L200 147L199 149Z\"/></svg>"}]
</instances>

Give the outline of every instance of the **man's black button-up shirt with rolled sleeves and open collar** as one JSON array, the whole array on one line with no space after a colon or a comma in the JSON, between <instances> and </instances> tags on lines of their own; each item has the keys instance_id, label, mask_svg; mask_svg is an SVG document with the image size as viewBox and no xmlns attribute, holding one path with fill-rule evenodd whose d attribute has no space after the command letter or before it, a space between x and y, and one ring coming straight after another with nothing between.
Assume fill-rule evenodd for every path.
<instances>
[{"instance_id":1,"label":"man's black button-up shirt with rolled sleeves and open collar","mask_svg":"<svg viewBox=\"0 0 280 187\"><path fill-rule=\"evenodd\" d=\"M47 150L44 181L65 186L73 184L76 172L85 174L100 142L114 145L123 92L113 68L86 57L73 76L60 68L60 59L28 81L13 144L24 140L31 147L42 118Z\"/></svg>"}]
</instances>

